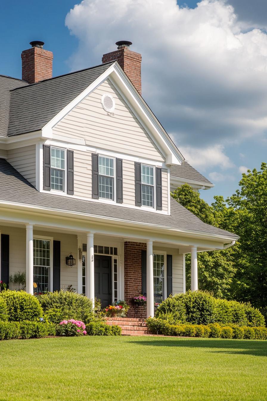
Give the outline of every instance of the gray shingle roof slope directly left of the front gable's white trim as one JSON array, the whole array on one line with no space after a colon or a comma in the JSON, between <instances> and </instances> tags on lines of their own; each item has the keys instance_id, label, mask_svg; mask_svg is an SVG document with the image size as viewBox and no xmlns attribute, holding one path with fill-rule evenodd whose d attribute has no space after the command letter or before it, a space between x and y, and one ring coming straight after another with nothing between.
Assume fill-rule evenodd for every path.
<instances>
[{"instance_id":1,"label":"gray shingle roof slope directly left of the front gable's white trim","mask_svg":"<svg viewBox=\"0 0 267 401\"><path fill-rule=\"evenodd\" d=\"M8 136L40 130L113 63L46 79L11 91Z\"/></svg>"}]
</instances>

